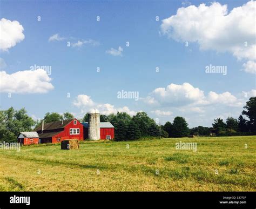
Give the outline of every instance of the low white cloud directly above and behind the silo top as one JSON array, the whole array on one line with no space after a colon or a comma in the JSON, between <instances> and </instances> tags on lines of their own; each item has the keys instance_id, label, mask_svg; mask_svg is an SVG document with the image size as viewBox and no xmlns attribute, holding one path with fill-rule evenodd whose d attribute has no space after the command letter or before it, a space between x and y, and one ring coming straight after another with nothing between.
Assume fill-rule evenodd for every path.
<instances>
[{"instance_id":1,"label":"low white cloud directly above and behind the silo top","mask_svg":"<svg viewBox=\"0 0 256 209\"><path fill-rule=\"evenodd\" d=\"M81 110L81 113L88 112L92 107L97 108L100 113L102 114L111 114L111 113L117 113L117 112L126 112L133 116L136 114L136 111L130 110L129 107L114 107L114 105L111 105L109 103L106 104L99 104L93 102L90 96L87 95L78 95L76 99L73 101L73 105L79 107Z\"/></svg>"}]
</instances>

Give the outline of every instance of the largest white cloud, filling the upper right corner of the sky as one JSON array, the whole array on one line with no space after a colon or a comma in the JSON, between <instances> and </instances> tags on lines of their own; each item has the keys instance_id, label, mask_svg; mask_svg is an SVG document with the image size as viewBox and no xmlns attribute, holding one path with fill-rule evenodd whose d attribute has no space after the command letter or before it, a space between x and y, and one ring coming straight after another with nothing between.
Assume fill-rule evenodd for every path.
<instances>
[{"instance_id":1,"label":"largest white cloud, filling the upper right corner of the sky","mask_svg":"<svg viewBox=\"0 0 256 209\"><path fill-rule=\"evenodd\" d=\"M256 2L233 8L214 2L210 6L179 8L177 14L162 21L161 33L179 42L197 42L201 50L231 52L238 60L256 60ZM246 72L254 73L251 63Z\"/></svg>"}]
</instances>

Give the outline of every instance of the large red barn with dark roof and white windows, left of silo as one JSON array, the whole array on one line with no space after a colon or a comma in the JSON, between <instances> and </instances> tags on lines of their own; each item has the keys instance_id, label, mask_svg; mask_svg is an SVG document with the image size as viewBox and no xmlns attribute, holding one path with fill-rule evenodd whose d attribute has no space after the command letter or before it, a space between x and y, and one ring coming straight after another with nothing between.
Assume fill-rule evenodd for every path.
<instances>
[{"instance_id":1,"label":"large red barn with dark roof and white windows, left of silo","mask_svg":"<svg viewBox=\"0 0 256 209\"><path fill-rule=\"evenodd\" d=\"M39 135L39 143L59 143L65 139L84 140L83 125L76 119L43 123L35 131Z\"/></svg>"}]
</instances>

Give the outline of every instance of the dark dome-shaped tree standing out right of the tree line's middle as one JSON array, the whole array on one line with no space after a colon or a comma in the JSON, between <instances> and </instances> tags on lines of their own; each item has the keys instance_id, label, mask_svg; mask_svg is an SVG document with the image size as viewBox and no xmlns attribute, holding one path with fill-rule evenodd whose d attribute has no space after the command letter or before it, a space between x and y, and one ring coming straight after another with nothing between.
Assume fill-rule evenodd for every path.
<instances>
[{"instance_id":1,"label":"dark dome-shaped tree standing out right of the tree line's middle","mask_svg":"<svg viewBox=\"0 0 256 209\"><path fill-rule=\"evenodd\" d=\"M186 137L190 132L190 129L188 129L188 124L183 117L174 118L172 130L172 137Z\"/></svg>"}]
</instances>

